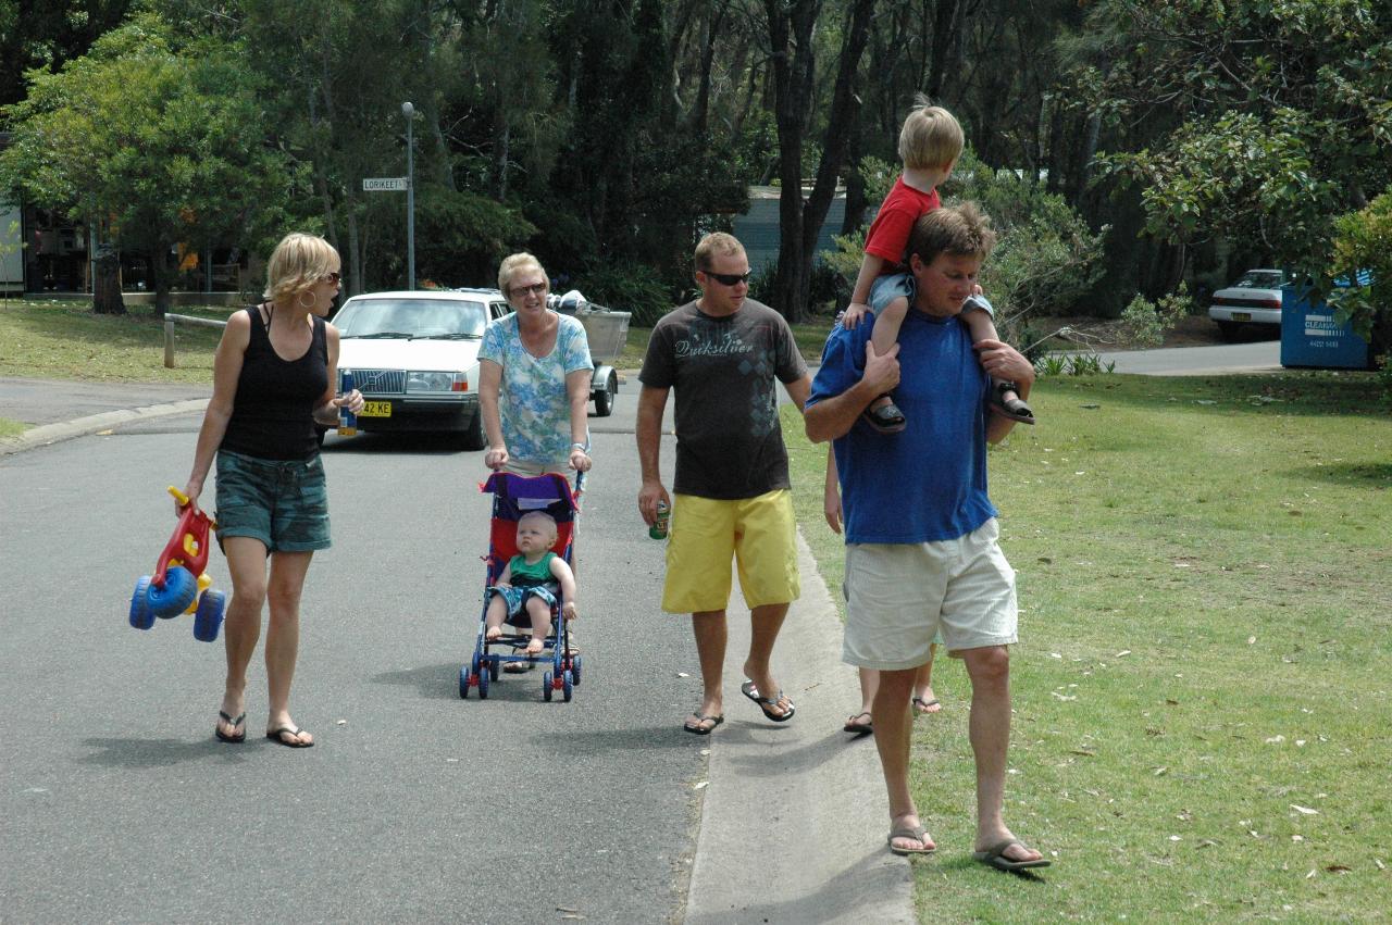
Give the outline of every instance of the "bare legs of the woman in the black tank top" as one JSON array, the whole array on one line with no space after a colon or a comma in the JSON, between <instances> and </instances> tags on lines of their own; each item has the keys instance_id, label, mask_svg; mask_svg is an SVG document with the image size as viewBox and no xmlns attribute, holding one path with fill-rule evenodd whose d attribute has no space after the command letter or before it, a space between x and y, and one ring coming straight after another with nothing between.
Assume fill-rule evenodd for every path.
<instances>
[{"instance_id":1,"label":"bare legs of the woman in the black tank top","mask_svg":"<svg viewBox=\"0 0 1392 925\"><path fill-rule=\"evenodd\" d=\"M246 704L246 668L260 638L260 613L270 604L266 627L266 687L269 695L267 732L288 726L296 729L290 716L290 687L295 679L295 659L299 654L299 598L305 588L305 574L313 552L274 552L270 556L267 579L266 547L251 537L228 537L224 542L227 565L232 576L232 600L227 606L223 638L227 647L227 686L223 691L223 712L238 716ZM234 727L219 721L219 727L232 734ZM284 733L287 741L303 744L313 736L301 732Z\"/></svg>"}]
</instances>

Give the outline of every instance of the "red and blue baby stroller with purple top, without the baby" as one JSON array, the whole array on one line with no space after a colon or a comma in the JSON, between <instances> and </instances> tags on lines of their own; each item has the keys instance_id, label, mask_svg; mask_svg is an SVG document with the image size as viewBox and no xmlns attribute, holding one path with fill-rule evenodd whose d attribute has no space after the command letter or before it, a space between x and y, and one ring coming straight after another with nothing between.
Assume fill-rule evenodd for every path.
<instances>
[{"instance_id":1,"label":"red and blue baby stroller with purple top, without the baby","mask_svg":"<svg viewBox=\"0 0 1392 925\"><path fill-rule=\"evenodd\" d=\"M508 559L516 555L518 519L529 510L544 510L551 515L557 529L551 551L565 559L567 565L575 566L572 554L579 508L565 476L553 472L529 478L496 472L483 483L480 491L493 494L484 588L497 584ZM562 700L569 702L572 689L580 684L580 657L571 652L567 620L561 619L558 608L551 608L551 633L546 637L544 648L529 655L525 650L532 634L522 632L530 630L530 619L526 613L509 618L516 623L504 625L501 637L494 640L486 637L487 598L489 595L484 593L483 611L479 616L479 638L473 645L473 657L468 665L459 669L459 697L468 698L469 689L476 687L479 700L487 700L489 683L498 680L498 668L505 662L530 663L550 659L550 670L541 675L541 698L550 701L555 691L561 691ZM514 632L509 633L509 627ZM505 651L493 652L493 648Z\"/></svg>"}]
</instances>

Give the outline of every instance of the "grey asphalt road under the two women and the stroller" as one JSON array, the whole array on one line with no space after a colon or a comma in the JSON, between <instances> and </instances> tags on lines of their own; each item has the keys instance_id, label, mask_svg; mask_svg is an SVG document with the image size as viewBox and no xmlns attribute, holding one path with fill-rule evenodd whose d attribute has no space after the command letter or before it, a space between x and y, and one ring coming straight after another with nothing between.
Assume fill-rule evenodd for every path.
<instances>
[{"instance_id":1,"label":"grey asphalt road under the two women and the stroller","mask_svg":"<svg viewBox=\"0 0 1392 925\"><path fill-rule=\"evenodd\" d=\"M189 618L127 625L198 423L0 458L0 919L677 915L706 740L677 725L699 673L686 623L658 611L663 547L632 515L632 474L604 469L632 459L632 437L594 437L571 704L541 701L540 672L458 697L487 544L482 453L331 440L340 541L310 570L292 700L317 746L296 751L260 737L259 663L248 741L220 744L221 643L195 641ZM217 556L212 572L227 588Z\"/></svg>"}]
</instances>

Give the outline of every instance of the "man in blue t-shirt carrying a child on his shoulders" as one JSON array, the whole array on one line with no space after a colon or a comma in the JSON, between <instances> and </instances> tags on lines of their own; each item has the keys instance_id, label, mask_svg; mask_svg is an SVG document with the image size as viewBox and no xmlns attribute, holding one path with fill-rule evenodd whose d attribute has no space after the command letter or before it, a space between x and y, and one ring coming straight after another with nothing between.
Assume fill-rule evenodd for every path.
<instances>
[{"instance_id":1,"label":"man in blue t-shirt carrying a child on his shoulders","mask_svg":"<svg viewBox=\"0 0 1392 925\"><path fill-rule=\"evenodd\" d=\"M1009 645L1016 641L1015 572L997 540L986 491L986 445L1013 421L991 415L990 377L1027 396L1034 369L1001 341L972 344L958 319L995 242L972 203L919 218L909 236L915 293L898 344L877 355L874 328L837 327L806 405L807 437L834 440L846 537L842 659L880 670L871 709L889 791L889 850L937 850L909 793L909 694L941 629L972 682L977 830L973 857L1001 869L1044 867L1005 826L1011 732ZM980 353L980 362L973 355ZM894 389L909 424L878 434L860 420Z\"/></svg>"}]
</instances>

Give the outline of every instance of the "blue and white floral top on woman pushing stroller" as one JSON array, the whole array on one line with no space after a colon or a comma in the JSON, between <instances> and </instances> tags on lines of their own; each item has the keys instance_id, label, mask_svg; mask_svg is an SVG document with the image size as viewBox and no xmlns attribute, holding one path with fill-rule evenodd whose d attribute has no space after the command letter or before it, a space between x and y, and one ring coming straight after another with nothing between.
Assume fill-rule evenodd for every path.
<instances>
[{"instance_id":1,"label":"blue and white floral top on woman pushing stroller","mask_svg":"<svg viewBox=\"0 0 1392 925\"><path fill-rule=\"evenodd\" d=\"M537 359L526 352L514 313L489 323L479 359L503 367L498 416L508 455L523 462L564 466L571 455L571 402L565 395L565 376L593 370L594 363L590 362L585 325L568 314L558 317L561 328L547 356Z\"/></svg>"}]
</instances>

